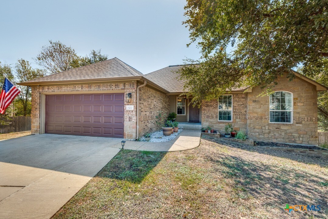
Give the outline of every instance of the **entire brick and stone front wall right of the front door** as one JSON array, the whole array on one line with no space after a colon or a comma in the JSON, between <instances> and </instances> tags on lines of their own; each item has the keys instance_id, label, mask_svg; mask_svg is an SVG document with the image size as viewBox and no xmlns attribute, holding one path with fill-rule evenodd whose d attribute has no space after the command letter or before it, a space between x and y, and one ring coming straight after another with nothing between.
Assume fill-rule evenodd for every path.
<instances>
[{"instance_id":1,"label":"entire brick and stone front wall right of the front door","mask_svg":"<svg viewBox=\"0 0 328 219\"><path fill-rule=\"evenodd\" d=\"M269 97L260 96L264 90L257 86L249 93L233 93L233 121L217 121L217 100L202 104L202 127L213 127L224 133L224 125L244 130L250 139L264 142L317 144L317 90L298 77L289 81L280 77L274 91L293 93L293 123L269 122Z\"/></svg>"}]
</instances>

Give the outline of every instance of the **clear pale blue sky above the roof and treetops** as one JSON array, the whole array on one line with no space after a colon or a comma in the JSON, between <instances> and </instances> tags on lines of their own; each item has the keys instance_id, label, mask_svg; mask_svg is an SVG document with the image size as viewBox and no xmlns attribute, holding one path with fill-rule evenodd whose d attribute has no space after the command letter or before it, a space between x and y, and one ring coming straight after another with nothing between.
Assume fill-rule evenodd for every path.
<instances>
[{"instance_id":1,"label":"clear pale blue sky above the roof and treetops","mask_svg":"<svg viewBox=\"0 0 328 219\"><path fill-rule=\"evenodd\" d=\"M144 74L182 64L200 56L195 44L186 46L184 5L183 0L1 1L0 61L24 58L38 67L32 57L48 40L59 40L78 55L101 49Z\"/></svg>"}]
</instances>

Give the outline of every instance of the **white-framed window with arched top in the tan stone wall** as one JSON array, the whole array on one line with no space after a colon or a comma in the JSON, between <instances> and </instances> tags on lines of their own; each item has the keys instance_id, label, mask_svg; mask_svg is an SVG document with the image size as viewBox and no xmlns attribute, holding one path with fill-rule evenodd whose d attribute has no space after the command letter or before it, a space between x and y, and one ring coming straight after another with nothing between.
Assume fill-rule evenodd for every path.
<instances>
[{"instance_id":1,"label":"white-framed window with arched top in the tan stone wall","mask_svg":"<svg viewBox=\"0 0 328 219\"><path fill-rule=\"evenodd\" d=\"M270 95L270 122L292 123L293 94L277 91Z\"/></svg>"}]
</instances>

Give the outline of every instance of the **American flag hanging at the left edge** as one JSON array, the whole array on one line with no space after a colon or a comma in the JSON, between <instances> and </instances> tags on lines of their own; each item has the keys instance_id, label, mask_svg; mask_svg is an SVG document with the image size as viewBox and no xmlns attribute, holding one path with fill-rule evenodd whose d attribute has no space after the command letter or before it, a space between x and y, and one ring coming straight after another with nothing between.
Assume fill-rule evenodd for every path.
<instances>
[{"instance_id":1,"label":"American flag hanging at the left edge","mask_svg":"<svg viewBox=\"0 0 328 219\"><path fill-rule=\"evenodd\" d=\"M15 87L10 80L5 77L5 83L3 84L0 94L0 113L4 114L7 107L15 99L20 91Z\"/></svg>"}]
</instances>

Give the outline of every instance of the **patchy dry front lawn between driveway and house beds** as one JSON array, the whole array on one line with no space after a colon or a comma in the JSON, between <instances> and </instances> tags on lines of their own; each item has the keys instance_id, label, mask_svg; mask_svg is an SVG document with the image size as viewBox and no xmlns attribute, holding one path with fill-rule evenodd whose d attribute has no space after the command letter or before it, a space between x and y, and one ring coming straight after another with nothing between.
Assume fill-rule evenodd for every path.
<instances>
[{"instance_id":1,"label":"patchy dry front lawn between driveway and house beds","mask_svg":"<svg viewBox=\"0 0 328 219\"><path fill-rule=\"evenodd\" d=\"M326 218L327 165L211 137L187 151L121 150L53 218Z\"/></svg>"}]
</instances>

